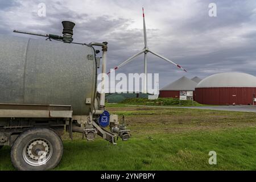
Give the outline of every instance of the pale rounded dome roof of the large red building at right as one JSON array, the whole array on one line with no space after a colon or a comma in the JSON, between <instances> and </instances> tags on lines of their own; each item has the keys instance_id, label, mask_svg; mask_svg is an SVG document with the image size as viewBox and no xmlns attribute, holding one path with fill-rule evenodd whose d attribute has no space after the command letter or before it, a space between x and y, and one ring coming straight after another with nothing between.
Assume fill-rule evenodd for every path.
<instances>
[{"instance_id":1,"label":"pale rounded dome roof of the large red building at right","mask_svg":"<svg viewBox=\"0 0 256 182\"><path fill-rule=\"evenodd\" d=\"M217 73L200 81L196 88L256 87L256 77L247 73Z\"/></svg>"}]
</instances>

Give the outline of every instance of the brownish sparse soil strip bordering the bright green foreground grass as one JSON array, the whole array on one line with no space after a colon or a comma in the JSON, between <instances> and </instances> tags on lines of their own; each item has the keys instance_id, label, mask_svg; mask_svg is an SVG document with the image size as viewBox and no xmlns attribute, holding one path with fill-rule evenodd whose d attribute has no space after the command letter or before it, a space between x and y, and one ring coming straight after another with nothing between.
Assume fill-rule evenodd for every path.
<instances>
[{"instance_id":1,"label":"brownish sparse soil strip bordering the bright green foreground grass","mask_svg":"<svg viewBox=\"0 0 256 182\"><path fill-rule=\"evenodd\" d=\"M246 119L226 120L221 116L198 117L191 115L144 115L128 116L126 122L135 133L156 134L156 133L176 133L189 131L216 131L237 127L255 127L256 121L246 121Z\"/></svg>"}]
</instances>

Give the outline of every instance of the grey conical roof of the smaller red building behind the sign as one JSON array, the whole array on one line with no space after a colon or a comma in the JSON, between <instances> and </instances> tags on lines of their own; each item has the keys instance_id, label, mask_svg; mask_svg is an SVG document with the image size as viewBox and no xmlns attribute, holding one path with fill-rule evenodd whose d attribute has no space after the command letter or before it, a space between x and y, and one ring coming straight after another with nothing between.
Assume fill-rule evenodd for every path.
<instances>
[{"instance_id":1,"label":"grey conical roof of the smaller red building behind the sign","mask_svg":"<svg viewBox=\"0 0 256 182\"><path fill-rule=\"evenodd\" d=\"M160 90L177 90L177 91L193 91L197 82L190 80L187 77L181 77L169 85L164 86Z\"/></svg>"}]
</instances>

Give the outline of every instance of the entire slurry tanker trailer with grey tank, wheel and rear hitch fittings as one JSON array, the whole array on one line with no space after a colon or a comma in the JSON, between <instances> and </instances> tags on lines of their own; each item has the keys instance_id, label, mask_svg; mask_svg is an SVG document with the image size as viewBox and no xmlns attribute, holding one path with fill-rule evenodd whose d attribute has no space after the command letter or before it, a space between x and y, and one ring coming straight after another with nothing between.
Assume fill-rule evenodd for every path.
<instances>
[{"instance_id":1,"label":"entire slurry tanker trailer with grey tank, wheel and rear hitch fittings","mask_svg":"<svg viewBox=\"0 0 256 182\"><path fill-rule=\"evenodd\" d=\"M62 24L62 36L14 30L46 40L0 35L0 148L11 146L19 170L56 167L64 131L71 139L76 132L112 144L115 137L130 138L126 125L105 110L104 74L97 92L97 68L102 61L106 72L108 43L75 43L75 23ZM101 57L94 47L102 48Z\"/></svg>"}]
</instances>

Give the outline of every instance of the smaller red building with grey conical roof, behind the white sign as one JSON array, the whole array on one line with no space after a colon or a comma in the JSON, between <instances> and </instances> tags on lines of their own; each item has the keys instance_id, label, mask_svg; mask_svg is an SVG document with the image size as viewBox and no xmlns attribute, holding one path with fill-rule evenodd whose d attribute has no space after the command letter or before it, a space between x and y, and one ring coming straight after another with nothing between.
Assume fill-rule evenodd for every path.
<instances>
[{"instance_id":1,"label":"smaller red building with grey conical roof, behind the white sign","mask_svg":"<svg viewBox=\"0 0 256 182\"><path fill-rule=\"evenodd\" d=\"M194 91L196 85L197 82L184 76L160 89L159 97L179 98L180 91Z\"/></svg>"}]
</instances>

